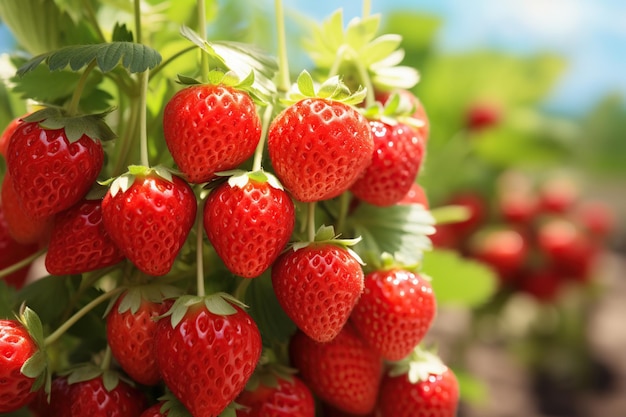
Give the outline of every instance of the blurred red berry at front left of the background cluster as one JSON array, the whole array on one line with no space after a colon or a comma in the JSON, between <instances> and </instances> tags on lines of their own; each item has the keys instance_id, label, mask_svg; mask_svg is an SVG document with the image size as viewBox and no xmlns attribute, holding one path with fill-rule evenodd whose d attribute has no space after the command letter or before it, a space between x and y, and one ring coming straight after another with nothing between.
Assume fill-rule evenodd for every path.
<instances>
[{"instance_id":1,"label":"blurred red berry at front left of the background cluster","mask_svg":"<svg viewBox=\"0 0 626 417\"><path fill-rule=\"evenodd\" d=\"M528 259L528 244L515 229L485 229L474 234L470 255L491 266L502 283L510 282Z\"/></svg>"}]
</instances>

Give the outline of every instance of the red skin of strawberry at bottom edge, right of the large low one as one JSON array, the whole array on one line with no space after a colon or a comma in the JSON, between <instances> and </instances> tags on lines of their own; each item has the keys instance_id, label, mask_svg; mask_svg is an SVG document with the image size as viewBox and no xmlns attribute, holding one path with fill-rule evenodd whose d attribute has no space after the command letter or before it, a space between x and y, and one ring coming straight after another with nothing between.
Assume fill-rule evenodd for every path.
<instances>
[{"instance_id":1,"label":"red skin of strawberry at bottom edge, right of the large low one","mask_svg":"<svg viewBox=\"0 0 626 417\"><path fill-rule=\"evenodd\" d=\"M255 391L243 390L235 401L246 407L237 410L237 417L315 416L311 390L295 376L291 381L278 378L277 387L260 384Z\"/></svg>"}]
</instances>

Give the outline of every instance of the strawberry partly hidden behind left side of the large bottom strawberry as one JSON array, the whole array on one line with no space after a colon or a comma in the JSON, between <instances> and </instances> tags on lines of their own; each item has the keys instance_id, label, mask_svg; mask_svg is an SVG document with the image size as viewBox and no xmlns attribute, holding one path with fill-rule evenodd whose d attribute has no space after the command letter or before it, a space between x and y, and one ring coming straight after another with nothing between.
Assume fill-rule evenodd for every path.
<instances>
[{"instance_id":1,"label":"strawberry partly hidden behind left side of the large bottom strawberry","mask_svg":"<svg viewBox=\"0 0 626 417\"><path fill-rule=\"evenodd\" d=\"M154 351L156 318L161 314L163 286L125 290L106 315L106 337L113 357L134 381L156 385L161 380Z\"/></svg>"}]
</instances>

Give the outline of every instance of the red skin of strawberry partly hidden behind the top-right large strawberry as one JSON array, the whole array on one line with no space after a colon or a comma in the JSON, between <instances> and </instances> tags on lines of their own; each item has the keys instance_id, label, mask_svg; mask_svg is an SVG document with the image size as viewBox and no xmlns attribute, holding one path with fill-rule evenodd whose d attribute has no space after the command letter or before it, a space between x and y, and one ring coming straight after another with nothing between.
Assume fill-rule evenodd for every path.
<instances>
[{"instance_id":1,"label":"red skin of strawberry partly hidden behind the top-right large strawberry","mask_svg":"<svg viewBox=\"0 0 626 417\"><path fill-rule=\"evenodd\" d=\"M425 144L417 130L405 124L375 120L369 124L374 138L372 162L350 191L367 203L387 207L411 189L422 166Z\"/></svg>"}]
</instances>

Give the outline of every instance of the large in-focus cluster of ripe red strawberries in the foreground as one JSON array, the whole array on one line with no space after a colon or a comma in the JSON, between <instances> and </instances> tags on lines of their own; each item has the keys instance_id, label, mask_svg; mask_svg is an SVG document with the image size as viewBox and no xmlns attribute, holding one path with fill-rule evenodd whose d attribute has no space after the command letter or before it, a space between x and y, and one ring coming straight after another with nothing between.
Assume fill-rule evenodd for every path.
<instances>
[{"instance_id":1,"label":"large in-focus cluster of ripe red strawberries in the foreground","mask_svg":"<svg viewBox=\"0 0 626 417\"><path fill-rule=\"evenodd\" d=\"M397 39L367 40L379 51L391 40L384 61L407 71L395 65ZM108 113L45 107L6 129L6 282L27 285L23 260L41 255L47 279L80 275L102 292L46 337L26 306L0 321L0 412L453 417L456 378L421 346L436 299L420 254L373 249L349 221L364 206L400 207L427 219L409 240L432 231L416 184L429 126L410 77L382 82L385 56L367 78L342 74L369 91L303 71L294 90L268 95L254 67L242 79L219 58L167 100L160 159L170 164L150 165L157 145L144 142L142 163L103 179L119 155L103 144L114 136ZM257 280L292 325L288 340L248 313ZM52 363L65 331L106 300L104 353Z\"/></svg>"}]
</instances>

